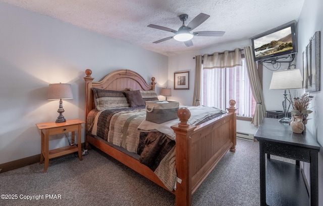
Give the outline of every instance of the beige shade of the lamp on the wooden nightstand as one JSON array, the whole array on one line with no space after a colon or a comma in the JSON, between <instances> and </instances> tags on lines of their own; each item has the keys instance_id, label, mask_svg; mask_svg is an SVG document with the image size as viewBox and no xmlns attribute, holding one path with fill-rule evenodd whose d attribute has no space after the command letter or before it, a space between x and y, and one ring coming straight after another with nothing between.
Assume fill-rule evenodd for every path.
<instances>
[{"instance_id":1,"label":"beige shade of the lamp on the wooden nightstand","mask_svg":"<svg viewBox=\"0 0 323 206\"><path fill-rule=\"evenodd\" d=\"M73 99L71 84L49 84L48 100Z\"/></svg>"}]
</instances>

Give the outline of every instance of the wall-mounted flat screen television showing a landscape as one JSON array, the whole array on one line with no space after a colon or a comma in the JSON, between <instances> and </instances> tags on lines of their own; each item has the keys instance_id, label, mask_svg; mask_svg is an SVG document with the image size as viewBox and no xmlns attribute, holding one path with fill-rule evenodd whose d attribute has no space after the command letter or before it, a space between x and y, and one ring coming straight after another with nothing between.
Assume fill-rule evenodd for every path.
<instances>
[{"instance_id":1,"label":"wall-mounted flat screen television showing a landscape","mask_svg":"<svg viewBox=\"0 0 323 206\"><path fill-rule=\"evenodd\" d=\"M296 21L291 21L251 38L255 61L270 61L297 53Z\"/></svg>"}]
</instances>

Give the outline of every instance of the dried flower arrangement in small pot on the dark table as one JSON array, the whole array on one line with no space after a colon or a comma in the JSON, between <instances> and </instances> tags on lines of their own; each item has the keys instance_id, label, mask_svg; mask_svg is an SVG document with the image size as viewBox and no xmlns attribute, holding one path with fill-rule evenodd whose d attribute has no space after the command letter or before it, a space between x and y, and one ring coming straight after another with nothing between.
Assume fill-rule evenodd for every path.
<instances>
[{"instance_id":1,"label":"dried flower arrangement in small pot on the dark table","mask_svg":"<svg viewBox=\"0 0 323 206\"><path fill-rule=\"evenodd\" d=\"M313 96L311 96L308 92L305 92L304 94L298 96L293 97L292 95L290 95L290 100L292 103L292 107L293 110L291 110L291 114L292 114L292 121L290 122L290 125L295 129L296 132L294 133L302 133L303 131L305 131L305 125L307 123L307 116L308 114L312 113L312 110L308 109L309 106L309 102L313 99ZM302 123L302 125L304 126L304 129L302 132L299 132L298 129L296 128L300 128L300 123ZM295 126L297 125L297 126Z\"/></svg>"}]
</instances>

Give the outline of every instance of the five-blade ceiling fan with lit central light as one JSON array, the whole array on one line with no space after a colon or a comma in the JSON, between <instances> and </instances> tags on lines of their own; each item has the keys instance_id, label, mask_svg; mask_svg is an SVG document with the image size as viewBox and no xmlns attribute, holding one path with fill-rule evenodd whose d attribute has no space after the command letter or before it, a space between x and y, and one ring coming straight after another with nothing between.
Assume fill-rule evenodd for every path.
<instances>
[{"instance_id":1,"label":"five-blade ceiling fan with lit central light","mask_svg":"<svg viewBox=\"0 0 323 206\"><path fill-rule=\"evenodd\" d=\"M158 26L154 24L149 24L148 27L175 33L174 36L162 38L157 40L156 42L153 42L154 44L161 43L171 38L174 38L179 42L184 42L186 47L190 47L193 46L193 42L191 40L193 36L223 36L223 34L225 33L224 31L194 31L193 33L190 32L191 30L195 29L200 24L202 24L209 17L210 16L207 14L200 13L189 24L187 24L187 26L185 26L184 22L187 20L188 15L181 14L179 18L183 22L183 25L177 31L175 29L170 29L164 26Z\"/></svg>"}]
</instances>

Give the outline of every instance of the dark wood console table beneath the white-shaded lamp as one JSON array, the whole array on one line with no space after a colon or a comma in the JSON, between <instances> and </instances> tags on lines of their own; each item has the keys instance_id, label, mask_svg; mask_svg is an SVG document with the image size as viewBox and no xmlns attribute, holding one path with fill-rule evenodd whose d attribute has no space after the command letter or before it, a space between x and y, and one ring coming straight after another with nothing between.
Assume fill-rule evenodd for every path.
<instances>
[{"instance_id":1,"label":"dark wood console table beneath the white-shaded lamp","mask_svg":"<svg viewBox=\"0 0 323 206\"><path fill-rule=\"evenodd\" d=\"M254 137L259 141L260 205L267 205L267 201L272 205L318 205L320 147L316 138L306 132L295 134L290 125L274 118L264 118ZM310 163L309 197L299 164L270 159L270 154ZM266 181L270 184L266 185Z\"/></svg>"}]
</instances>

